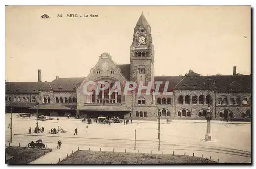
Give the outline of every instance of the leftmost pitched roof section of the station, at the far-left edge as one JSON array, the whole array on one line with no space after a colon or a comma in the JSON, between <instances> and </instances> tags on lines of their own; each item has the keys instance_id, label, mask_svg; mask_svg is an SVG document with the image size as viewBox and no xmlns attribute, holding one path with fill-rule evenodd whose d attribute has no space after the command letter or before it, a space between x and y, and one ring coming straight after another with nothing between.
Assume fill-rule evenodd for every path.
<instances>
[{"instance_id":1,"label":"leftmost pitched roof section of the station, at the far-left edge","mask_svg":"<svg viewBox=\"0 0 256 169\"><path fill-rule=\"evenodd\" d=\"M49 82L6 82L6 93L38 93L42 87L46 86Z\"/></svg>"}]
</instances>

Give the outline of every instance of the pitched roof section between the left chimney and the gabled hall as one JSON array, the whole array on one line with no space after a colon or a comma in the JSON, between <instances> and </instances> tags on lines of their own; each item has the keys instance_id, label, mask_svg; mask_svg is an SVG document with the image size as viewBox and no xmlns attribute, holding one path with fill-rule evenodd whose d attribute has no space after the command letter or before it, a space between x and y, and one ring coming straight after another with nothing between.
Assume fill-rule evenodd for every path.
<instances>
[{"instance_id":1,"label":"pitched roof section between the left chimney and the gabled hall","mask_svg":"<svg viewBox=\"0 0 256 169\"><path fill-rule=\"evenodd\" d=\"M53 91L76 91L84 77L81 78L58 78L52 82L48 82L48 85L45 85L41 90L53 90Z\"/></svg>"}]
</instances>

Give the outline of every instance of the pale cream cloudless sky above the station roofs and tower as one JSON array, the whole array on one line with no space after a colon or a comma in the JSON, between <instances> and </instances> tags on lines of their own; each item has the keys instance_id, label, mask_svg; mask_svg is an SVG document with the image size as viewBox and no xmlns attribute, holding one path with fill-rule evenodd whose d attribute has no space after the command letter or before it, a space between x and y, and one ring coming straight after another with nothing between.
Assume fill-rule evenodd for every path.
<instances>
[{"instance_id":1,"label":"pale cream cloudless sky above the station roofs and tower","mask_svg":"<svg viewBox=\"0 0 256 169\"><path fill-rule=\"evenodd\" d=\"M104 52L130 64L142 11L151 25L155 76L190 69L232 75L233 66L251 73L250 6L6 6L6 80L37 81L38 69L43 81L86 77Z\"/></svg>"}]
</instances>

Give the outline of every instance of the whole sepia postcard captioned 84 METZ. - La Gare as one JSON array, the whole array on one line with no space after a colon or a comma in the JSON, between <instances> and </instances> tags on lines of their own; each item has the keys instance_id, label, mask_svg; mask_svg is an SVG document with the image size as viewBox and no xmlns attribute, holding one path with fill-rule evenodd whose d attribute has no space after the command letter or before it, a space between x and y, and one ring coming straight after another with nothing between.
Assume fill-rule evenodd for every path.
<instances>
[{"instance_id":1,"label":"whole sepia postcard captioned 84 METZ. - La Gare","mask_svg":"<svg viewBox=\"0 0 256 169\"><path fill-rule=\"evenodd\" d=\"M251 163L250 6L6 6L6 164Z\"/></svg>"}]
</instances>

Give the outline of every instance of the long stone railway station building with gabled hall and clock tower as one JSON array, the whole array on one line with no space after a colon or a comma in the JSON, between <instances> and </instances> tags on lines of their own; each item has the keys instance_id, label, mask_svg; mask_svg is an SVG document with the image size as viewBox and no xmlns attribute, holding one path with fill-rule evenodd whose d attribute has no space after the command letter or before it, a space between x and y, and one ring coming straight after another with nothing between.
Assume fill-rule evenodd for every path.
<instances>
[{"instance_id":1,"label":"long stone railway station building with gabled hall and clock tower","mask_svg":"<svg viewBox=\"0 0 256 169\"><path fill-rule=\"evenodd\" d=\"M154 45L151 26L143 13L133 33L130 47L130 64L116 64L111 55L103 53L98 63L91 68L87 77L61 78L52 82L42 82L38 70L38 82L6 82L6 112L29 112L48 116L71 115L79 118L119 116L135 120L156 120L158 111L161 119L205 119L208 102L214 119L228 116L230 120L250 120L251 118L251 75L202 76L189 70L185 76L154 75ZM162 81L160 95L140 95L133 90L127 95L109 89L95 92L88 86L91 95L83 93L83 85L88 81L106 81L113 86L119 81L143 82ZM168 82L168 93L164 93ZM210 83L209 83L210 82ZM123 90L124 86L122 86ZM210 98L208 96L210 91Z\"/></svg>"}]
</instances>

